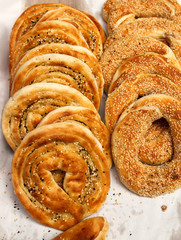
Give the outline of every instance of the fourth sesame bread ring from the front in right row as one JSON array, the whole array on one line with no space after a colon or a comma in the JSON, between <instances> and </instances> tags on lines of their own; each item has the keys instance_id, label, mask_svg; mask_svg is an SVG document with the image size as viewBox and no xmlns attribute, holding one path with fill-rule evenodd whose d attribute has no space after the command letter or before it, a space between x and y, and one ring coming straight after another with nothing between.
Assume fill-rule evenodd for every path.
<instances>
[{"instance_id":1,"label":"fourth sesame bread ring from the front in right row","mask_svg":"<svg viewBox=\"0 0 181 240\"><path fill-rule=\"evenodd\" d=\"M135 55L143 55L149 52L168 57L173 64L179 66L172 50L156 39L139 36L121 38L120 40L114 41L104 51L100 60L105 81L105 91L108 91L113 76L123 61Z\"/></svg>"}]
</instances>

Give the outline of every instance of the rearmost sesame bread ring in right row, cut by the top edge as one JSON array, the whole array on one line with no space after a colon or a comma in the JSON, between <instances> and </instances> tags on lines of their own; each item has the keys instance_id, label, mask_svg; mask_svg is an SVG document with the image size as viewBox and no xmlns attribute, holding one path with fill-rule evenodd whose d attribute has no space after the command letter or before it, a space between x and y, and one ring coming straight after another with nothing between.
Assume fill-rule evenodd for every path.
<instances>
[{"instance_id":1,"label":"rearmost sesame bread ring in right row, cut by the top edge","mask_svg":"<svg viewBox=\"0 0 181 240\"><path fill-rule=\"evenodd\" d=\"M112 7L107 21L108 33L126 21L160 17L179 21L181 6L175 0L121 0Z\"/></svg>"}]
</instances>

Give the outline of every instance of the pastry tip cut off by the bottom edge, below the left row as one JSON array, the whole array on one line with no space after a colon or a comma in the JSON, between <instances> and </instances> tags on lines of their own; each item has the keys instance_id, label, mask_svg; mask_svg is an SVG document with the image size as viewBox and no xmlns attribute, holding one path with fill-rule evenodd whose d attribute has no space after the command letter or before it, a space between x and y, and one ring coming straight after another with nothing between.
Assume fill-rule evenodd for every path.
<instances>
[{"instance_id":1,"label":"pastry tip cut off by the bottom edge, below the left row","mask_svg":"<svg viewBox=\"0 0 181 240\"><path fill-rule=\"evenodd\" d=\"M61 233L53 240L105 240L109 225L105 218L88 218L64 233Z\"/></svg>"}]
</instances>

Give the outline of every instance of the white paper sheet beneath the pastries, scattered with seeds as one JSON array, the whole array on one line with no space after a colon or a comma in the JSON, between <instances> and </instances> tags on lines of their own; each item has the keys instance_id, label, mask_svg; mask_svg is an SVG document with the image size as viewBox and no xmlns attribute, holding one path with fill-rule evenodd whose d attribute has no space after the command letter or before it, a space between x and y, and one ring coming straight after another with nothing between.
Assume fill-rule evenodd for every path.
<instances>
[{"instance_id":1,"label":"white paper sheet beneath the pastries, scattered with seeds","mask_svg":"<svg viewBox=\"0 0 181 240\"><path fill-rule=\"evenodd\" d=\"M25 7L36 2L0 0L0 112L8 99L8 42L11 28ZM104 0L60 2L89 12L106 27L101 16ZM104 104L100 112L103 116ZM14 195L12 156L13 152L0 132L0 240L50 240L60 231L37 223ZM163 205L167 206L166 211L162 211ZM154 199L139 197L120 183L113 168L110 192L104 206L94 214L98 215L106 217L109 222L107 240L180 240L181 189Z\"/></svg>"}]
</instances>

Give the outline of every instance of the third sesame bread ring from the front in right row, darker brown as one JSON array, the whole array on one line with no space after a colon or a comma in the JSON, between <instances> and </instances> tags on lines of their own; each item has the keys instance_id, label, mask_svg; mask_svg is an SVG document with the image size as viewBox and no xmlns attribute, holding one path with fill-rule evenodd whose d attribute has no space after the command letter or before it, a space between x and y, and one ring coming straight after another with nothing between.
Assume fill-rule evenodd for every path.
<instances>
[{"instance_id":1,"label":"third sesame bread ring from the front in right row, darker brown","mask_svg":"<svg viewBox=\"0 0 181 240\"><path fill-rule=\"evenodd\" d=\"M133 79L143 73L161 75L181 87L181 68L174 66L168 58L162 55L148 53L131 57L120 65L110 84L109 94L126 79Z\"/></svg>"}]
</instances>

